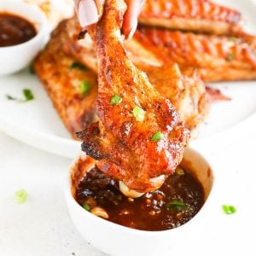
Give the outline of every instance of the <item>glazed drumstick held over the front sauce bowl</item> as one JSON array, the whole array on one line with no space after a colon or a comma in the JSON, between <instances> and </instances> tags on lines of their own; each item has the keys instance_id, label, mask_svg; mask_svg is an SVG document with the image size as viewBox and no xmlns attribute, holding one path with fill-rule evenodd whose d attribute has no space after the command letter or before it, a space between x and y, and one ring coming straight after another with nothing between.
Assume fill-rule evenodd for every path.
<instances>
[{"instance_id":1,"label":"glazed drumstick held over the front sauce bowl","mask_svg":"<svg viewBox=\"0 0 256 256\"><path fill-rule=\"evenodd\" d=\"M123 181L129 189L154 189L150 178L171 174L182 160L189 131L179 120L175 108L160 96L144 73L128 58L120 35L125 3L107 0L102 20L89 28L98 58L99 122L79 134L86 154L99 160L102 172ZM110 104L114 95L118 104ZM143 108L143 119L132 111ZM153 141L154 133L163 137Z\"/></svg>"}]
</instances>

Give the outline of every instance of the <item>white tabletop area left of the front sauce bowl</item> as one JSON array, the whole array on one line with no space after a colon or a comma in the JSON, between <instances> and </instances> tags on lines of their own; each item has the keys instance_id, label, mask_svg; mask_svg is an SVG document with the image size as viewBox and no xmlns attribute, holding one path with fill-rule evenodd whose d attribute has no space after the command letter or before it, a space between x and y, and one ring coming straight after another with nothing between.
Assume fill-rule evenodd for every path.
<instances>
[{"instance_id":1,"label":"white tabletop area left of the front sauce bowl","mask_svg":"<svg viewBox=\"0 0 256 256\"><path fill-rule=\"evenodd\" d=\"M0 132L0 255L100 256L67 213L63 181L71 160L19 143ZM15 191L26 189L23 205Z\"/></svg>"}]
</instances>

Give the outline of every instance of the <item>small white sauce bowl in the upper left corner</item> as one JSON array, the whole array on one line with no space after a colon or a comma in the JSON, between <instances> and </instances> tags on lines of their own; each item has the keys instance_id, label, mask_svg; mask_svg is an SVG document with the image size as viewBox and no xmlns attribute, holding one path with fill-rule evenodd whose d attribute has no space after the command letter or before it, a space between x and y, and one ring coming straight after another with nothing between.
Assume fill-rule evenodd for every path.
<instances>
[{"instance_id":1,"label":"small white sauce bowl in the upper left corner","mask_svg":"<svg viewBox=\"0 0 256 256\"><path fill-rule=\"evenodd\" d=\"M15 73L31 63L45 44L48 33L44 12L37 6L18 0L0 1L0 13L19 15L32 22L37 35L23 44L0 47L0 75Z\"/></svg>"}]
</instances>

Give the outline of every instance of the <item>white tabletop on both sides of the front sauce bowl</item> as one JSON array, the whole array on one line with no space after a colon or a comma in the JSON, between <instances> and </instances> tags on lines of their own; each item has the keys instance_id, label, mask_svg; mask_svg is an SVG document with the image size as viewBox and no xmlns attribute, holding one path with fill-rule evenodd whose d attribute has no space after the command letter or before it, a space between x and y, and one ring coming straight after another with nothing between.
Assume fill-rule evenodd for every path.
<instances>
[{"instance_id":1,"label":"white tabletop on both sides of the front sauce bowl","mask_svg":"<svg viewBox=\"0 0 256 256\"><path fill-rule=\"evenodd\" d=\"M227 188L224 195L219 195L220 206L230 203L237 208L236 214L224 215L221 222L227 225L226 240L216 236L214 243L219 247L206 248L207 255L256 255L251 232L256 230L255 131L256 116L205 143L194 143L214 162L216 174L225 172L225 180L216 181L217 186ZM69 163L69 159L28 147L0 133L1 256L104 255L83 240L68 216L62 185ZM14 194L22 188L28 198L25 204L18 205ZM102 236L108 235L102 230Z\"/></svg>"}]
</instances>

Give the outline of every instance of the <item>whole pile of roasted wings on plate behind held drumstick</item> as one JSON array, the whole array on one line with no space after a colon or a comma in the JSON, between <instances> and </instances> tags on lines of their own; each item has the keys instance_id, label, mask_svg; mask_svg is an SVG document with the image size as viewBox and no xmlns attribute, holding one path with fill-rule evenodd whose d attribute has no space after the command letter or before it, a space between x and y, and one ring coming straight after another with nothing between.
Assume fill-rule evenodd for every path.
<instances>
[{"instance_id":1,"label":"whole pile of roasted wings on plate behind held drumstick","mask_svg":"<svg viewBox=\"0 0 256 256\"><path fill-rule=\"evenodd\" d=\"M132 63L189 130L206 117L208 93L225 99L204 81L256 79L256 39L242 31L242 20L238 11L208 0L147 0L137 32L125 41ZM79 32L75 18L63 20L34 64L73 137L97 119L96 49L88 34L78 40Z\"/></svg>"}]
</instances>

